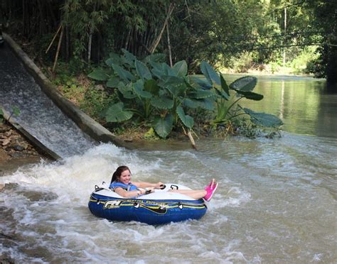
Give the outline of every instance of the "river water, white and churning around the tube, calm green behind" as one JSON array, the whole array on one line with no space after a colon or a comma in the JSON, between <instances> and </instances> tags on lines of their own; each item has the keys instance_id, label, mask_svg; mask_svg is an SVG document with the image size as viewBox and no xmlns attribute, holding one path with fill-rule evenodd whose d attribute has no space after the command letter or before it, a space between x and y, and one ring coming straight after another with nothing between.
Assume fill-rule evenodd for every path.
<instances>
[{"instance_id":1,"label":"river water, white and churning around the tube, calm green behind","mask_svg":"<svg viewBox=\"0 0 337 264\"><path fill-rule=\"evenodd\" d=\"M228 79L234 77L228 77ZM197 141L198 151L102 144L0 177L0 252L16 263L336 263L337 95L310 78L259 77L255 111L281 138ZM90 214L95 184L127 164L134 180L220 186L199 221L119 223Z\"/></svg>"}]
</instances>

